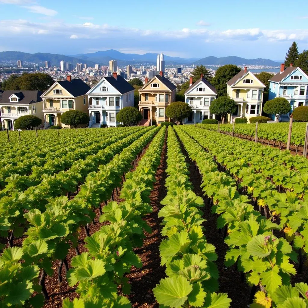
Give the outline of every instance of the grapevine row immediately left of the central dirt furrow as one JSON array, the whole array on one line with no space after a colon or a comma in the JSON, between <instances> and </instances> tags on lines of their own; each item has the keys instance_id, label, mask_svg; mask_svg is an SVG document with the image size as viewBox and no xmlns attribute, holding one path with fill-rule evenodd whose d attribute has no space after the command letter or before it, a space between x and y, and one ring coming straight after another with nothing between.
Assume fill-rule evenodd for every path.
<instances>
[{"instance_id":1,"label":"grapevine row immediately left of the central dirt furrow","mask_svg":"<svg viewBox=\"0 0 308 308\"><path fill-rule=\"evenodd\" d=\"M142 217L152 211L149 195L160 163L166 128L163 127L153 139L136 170L126 174L120 198L124 201L109 202L104 207L100 222L109 222L91 237L87 237L82 253L72 259L73 269L68 274L69 284L75 286L79 299L63 301L63 308L77 308L99 303L99 307L131 307L127 298L117 295L117 286L129 294L130 285L125 274L132 265L142 267L140 258L133 248L143 245L144 230L151 228ZM91 275L83 275L84 268L91 268Z\"/></svg>"}]
</instances>

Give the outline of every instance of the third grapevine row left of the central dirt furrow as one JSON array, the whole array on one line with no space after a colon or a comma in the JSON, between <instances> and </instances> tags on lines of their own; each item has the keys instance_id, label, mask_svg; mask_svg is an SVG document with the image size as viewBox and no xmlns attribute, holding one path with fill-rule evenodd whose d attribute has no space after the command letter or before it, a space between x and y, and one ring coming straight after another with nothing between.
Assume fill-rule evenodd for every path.
<instances>
[{"instance_id":1,"label":"third grapevine row left of the central dirt furrow","mask_svg":"<svg viewBox=\"0 0 308 308\"><path fill-rule=\"evenodd\" d=\"M126 138L99 150L97 154L87 156L85 160L75 161L67 171L43 176L43 181L39 185L30 187L23 193L15 192L10 197L3 197L0 202L0 235L7 237L9 245L12 246L14 237L21 237L24 232L24 211L44 211L51 197L74 192L90 172L96 171L100 164L109 162L115 154L151 129L136 128L133 134L131 131L126 132Z\"/></svg>"}]
</instances>

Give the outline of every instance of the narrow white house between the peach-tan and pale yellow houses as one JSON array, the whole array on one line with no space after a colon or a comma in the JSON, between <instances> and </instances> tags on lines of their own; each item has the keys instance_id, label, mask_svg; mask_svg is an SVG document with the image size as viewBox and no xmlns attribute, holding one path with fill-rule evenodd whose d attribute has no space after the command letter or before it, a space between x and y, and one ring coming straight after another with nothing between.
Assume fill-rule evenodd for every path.
<instances>
[{"instance_id":1,"label":"narrow white house between the peach-tan and pale yellow houses","mask_svg":"<svg viewBox=\"0 0 308 308\"><path fill-rule=\"evenodd\" d=\"M211 83L203 78L203 74L195 83L193 83L193 77L190 77L189 87L184 95L185 102L192 108L192 113L184 119L184 123L201 123L205 119L215 119L215 115L210 113L209 107L216 99L217 91Z\"/></svg>"}]
</instances>

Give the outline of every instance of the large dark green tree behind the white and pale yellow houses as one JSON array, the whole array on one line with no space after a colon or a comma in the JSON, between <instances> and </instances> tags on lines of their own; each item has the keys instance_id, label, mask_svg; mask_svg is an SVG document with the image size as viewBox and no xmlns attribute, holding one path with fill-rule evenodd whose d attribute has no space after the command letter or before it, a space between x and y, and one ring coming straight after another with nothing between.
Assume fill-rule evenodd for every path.
<instances>
[{"instance_id":1,"label":"large dark green tree behind the white and pale yellow houses","mask_svg":"<svg viewBox=\"0 0 308 308\"><path fill-rule=\"evenodd\" d=\"M233 64L226 64L218 67L215 77L212 78L212 85L216 88L218 96L227 95L227 81L239 73L241 69Z\"/></svg>"}]
</instances>

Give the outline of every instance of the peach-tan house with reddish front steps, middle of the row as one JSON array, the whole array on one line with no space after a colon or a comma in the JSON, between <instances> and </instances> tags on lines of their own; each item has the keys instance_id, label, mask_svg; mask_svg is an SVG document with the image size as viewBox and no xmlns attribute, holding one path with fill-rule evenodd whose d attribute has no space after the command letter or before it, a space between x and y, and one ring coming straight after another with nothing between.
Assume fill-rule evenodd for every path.
<instances>
[{"instance_id":1,"label":"peach-tan house with reddish front steps, middle of the row","mask_svg":"<svg viewBox=\"0 0 308 308\"><path fill-rule=\"evenodd\" d=\"M168 80L162 71L152 79L145 78L145 84L139 89L139 110L143 116L140 125L168 122L166 107L175 101L176 86Z\"/></svg>"}]
</instances>

